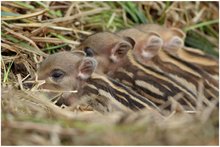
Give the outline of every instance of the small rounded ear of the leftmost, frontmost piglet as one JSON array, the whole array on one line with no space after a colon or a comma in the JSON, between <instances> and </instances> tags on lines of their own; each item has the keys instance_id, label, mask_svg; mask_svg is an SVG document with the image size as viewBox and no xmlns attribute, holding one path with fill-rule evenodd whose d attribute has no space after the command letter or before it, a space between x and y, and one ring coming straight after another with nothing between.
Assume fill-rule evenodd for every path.
<instances>
[{"instance_id":1,"label":"small rounded ear of the leftmost, frontmost piglet","mask_svg":"<svg viewBox=\"0 0 220 147\"><path fill-rule=\"evenodd\" d=\"M78 68L78 78L81 80L87 80L91 77L92 73L95 71L97 66L97 61L94 58L86 57L84 58Z\"/></svg>"}]
</instances>

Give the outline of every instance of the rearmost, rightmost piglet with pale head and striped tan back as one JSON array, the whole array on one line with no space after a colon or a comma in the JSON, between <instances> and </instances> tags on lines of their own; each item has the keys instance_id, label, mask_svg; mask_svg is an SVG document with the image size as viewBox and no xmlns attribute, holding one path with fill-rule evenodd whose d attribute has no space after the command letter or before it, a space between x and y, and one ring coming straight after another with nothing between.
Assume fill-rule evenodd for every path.
<instances>
[{"instance_id":1,"label":"rearmost, rightmost piglet with pale head and striped tan back","mask_svg":"<svg viewBox=\"0 0 220 147\"><path fill-rule=\"evenodd\" d=\"M195 64L211 75L218 76L218 60L206 55L202 51L184 47L184 39L186 35L180 29L166 28L157 24L139 25L136 26L136 28L143 32L158 33L164 42L163 49L169 54L179 57L186 62ZM175 36L176 39L174 39Z\"/></svg>"}]
</instances>

